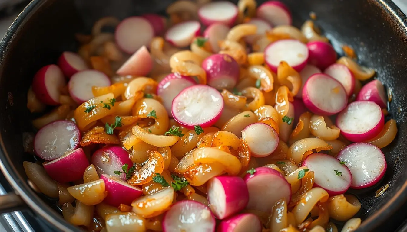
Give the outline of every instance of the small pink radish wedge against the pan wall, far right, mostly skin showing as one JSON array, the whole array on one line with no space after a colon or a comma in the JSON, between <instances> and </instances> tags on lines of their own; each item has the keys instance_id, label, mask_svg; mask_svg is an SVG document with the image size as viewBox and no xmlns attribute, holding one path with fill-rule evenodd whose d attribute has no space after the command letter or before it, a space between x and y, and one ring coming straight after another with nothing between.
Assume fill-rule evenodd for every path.
<instances>
[{"instance_id":1,"label":"small pink radish wedge against the pan wall, far right, mostly skin showing","mask_svg":"<svg viewBox=\"0 0 407 232\"><path fill-rule=\"evenodd\" d=\"M380 80L372 80L363 85L356 100L367 100L378 104L381 108L387 108L387 97L383 84Z\"/></svg>"}]
</instances>

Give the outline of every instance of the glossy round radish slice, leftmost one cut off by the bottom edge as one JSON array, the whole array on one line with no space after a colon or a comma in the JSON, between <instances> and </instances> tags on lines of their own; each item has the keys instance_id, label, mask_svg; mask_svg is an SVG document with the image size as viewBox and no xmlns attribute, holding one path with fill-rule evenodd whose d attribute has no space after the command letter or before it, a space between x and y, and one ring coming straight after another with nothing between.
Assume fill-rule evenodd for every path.
<instances>
[{"instance_id":1,"label":"glossy round radish slice, leftmost one cut off by the bottom edge","mask_svg":"<svg viewBox=\"0 0 407 232\"><path fill-rule=\"evenodd\" d=\"M208 206L191 200L173 204L162 220L164 232L214 232L215 226L215 217Z\"/></svg>"}]
</instances>

